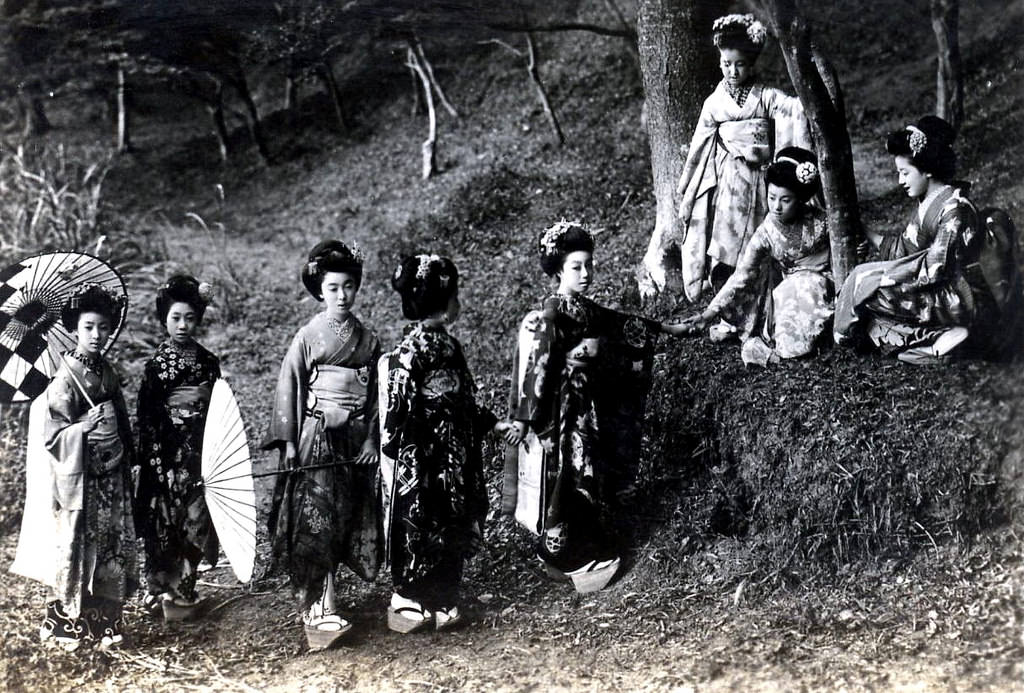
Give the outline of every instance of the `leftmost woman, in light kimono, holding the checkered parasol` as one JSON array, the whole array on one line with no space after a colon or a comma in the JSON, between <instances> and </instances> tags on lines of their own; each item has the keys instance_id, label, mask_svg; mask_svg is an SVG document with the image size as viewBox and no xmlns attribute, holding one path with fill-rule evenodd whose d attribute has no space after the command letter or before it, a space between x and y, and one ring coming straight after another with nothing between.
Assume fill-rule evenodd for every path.
<instances>
[{"instance_id":1,"label":"leftmost woman, in light kimono, holding the checkered parasol","mask_svg":"<svg viewBox=\"0 0 1024 693\"><path fill-rule=\"evenodd\" d=\"M131 429L118 375L100 353L123 310L123 298L99 285L68 300L60 320L78 344L61 356L42 395L56 570L40 636L67 650L84 638L101 649L120 646L123 605L138 587Z\"/></svg>"}]
</instances>

